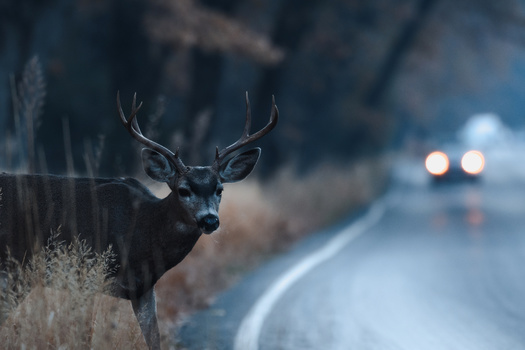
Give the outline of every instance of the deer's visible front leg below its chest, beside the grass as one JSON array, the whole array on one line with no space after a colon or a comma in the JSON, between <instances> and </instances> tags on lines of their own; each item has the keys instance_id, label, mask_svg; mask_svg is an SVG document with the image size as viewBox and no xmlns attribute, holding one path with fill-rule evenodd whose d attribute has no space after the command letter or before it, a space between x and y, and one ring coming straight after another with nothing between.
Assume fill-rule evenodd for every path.
<instances>
[{"instance_id":1,"label":"deer's visible front leg below its chest, beside the grass","mask_svg":"<svg viewBox=\"0 0 525 350\"><path fill-rule=\"evenodd\" d=\"M155 301L154 288L152 287L139 299L132 299L131 305L133 306L133 311L139 321L140 329L142 330L148 347L153 350L160 350L157 303Z\"/></svg>"}]
</instances>

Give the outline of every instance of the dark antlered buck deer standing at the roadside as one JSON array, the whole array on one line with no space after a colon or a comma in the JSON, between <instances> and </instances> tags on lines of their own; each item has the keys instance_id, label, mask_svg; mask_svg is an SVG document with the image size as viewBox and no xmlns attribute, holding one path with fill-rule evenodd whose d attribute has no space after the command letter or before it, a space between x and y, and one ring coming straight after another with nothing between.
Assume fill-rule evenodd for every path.
<instances>
[{"instance_id":1,"label":"dark antlered buck deer standing at the roadside","mask_svg":"<svg viewBox=\"0 0 525 350\"><path fill-rule=\"evenodd\" d=\"M144 170L153 180L167 183L171 193L159 199L133 178L0 174L0 260L6 259L9 248L12 257L27 261L59 227L66 242L80 234L95 251L111 245L118 264L115 296L131 300L146 343L160 349L154 285L184 259L202 233L217 230L223 184L248 176L261 150L227 157L269 133L277 124L278 110L272 97L270 121L250 135L246 93L246 123L239 140L221 151L217 147L211 166L186 166L178 149L173 153L142 134L137 122L141 106L136 106L135 95L126 118L117 93L124 127L146 146Z\"/></svg>"}]
</instances>

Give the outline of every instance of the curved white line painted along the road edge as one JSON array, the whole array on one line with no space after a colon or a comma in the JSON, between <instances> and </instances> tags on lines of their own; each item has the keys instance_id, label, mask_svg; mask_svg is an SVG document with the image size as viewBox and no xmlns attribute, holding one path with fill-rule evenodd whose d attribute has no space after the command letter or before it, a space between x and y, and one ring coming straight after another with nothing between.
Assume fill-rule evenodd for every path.
<instances>
[{"instance_id":1,"label":"curved white line painted along the road edge","mask_svg":"<svg viewBox=\"0 0 525 350\"><path fill-rule=\"evenodd\" d=\"M304 257L283 273L252 306L235 336L234 350L258 350L259 336L266 317L280 297L314 267L340 252L348 243L374 226L383 216L384 201L373 205L365 216L350 224L323 247Z\"/></svg>"}]
</instances>

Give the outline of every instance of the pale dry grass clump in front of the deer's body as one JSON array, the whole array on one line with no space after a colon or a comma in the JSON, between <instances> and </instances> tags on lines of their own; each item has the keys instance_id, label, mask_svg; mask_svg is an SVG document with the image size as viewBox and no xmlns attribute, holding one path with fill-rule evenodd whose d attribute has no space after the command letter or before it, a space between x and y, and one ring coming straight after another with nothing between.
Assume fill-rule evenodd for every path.
<instances>
[{"instance_id":1,"label":"pale dry grass clump in front of the deer's body","mask_svg":"<svg viewBox=\"0 0 525 350\"><path fill-rule=\"evenodd\" d=\"M26 266L6 262L1 348L144 349L129 301L100 294L111 285L111 251L95 254L83 241L59 237Z\"/></svg>"}]
</instances>

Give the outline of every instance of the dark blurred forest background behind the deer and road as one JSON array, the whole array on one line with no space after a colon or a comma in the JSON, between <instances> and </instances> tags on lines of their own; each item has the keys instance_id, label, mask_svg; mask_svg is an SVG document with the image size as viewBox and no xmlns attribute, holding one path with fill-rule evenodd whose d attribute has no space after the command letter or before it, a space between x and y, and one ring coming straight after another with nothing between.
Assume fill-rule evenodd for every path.
<instances>
[{"instance_id":1,"label":"dark blurred forest background behind the deer and road","mask_svg":"<svg viewBox=\"0 0 525 350\"><path fill-rule=\"evenodd\" d=\"M454 131L475 112L497 109L519 125L522 5L4 0L0 132L7 142L0 143L0 166L25 167L30 153L36 170L64 173L69 125L70 170L85 173L85 156L102 146L97 173L137 170L138 152L116 114L117 90L128 107L137 92L141 124L162 143L180 146L188 164L209 162L216 145L238 137L245 91L254 128L266 122L275 95L282 120L263 141L264 172L377 154ZM26 128L17 130L13 111L35 105L17 92L35 56L40 75L32 78L45 84L45 96L31 113L38 118L28 151Z\"/></svg>"}]
</instances>

